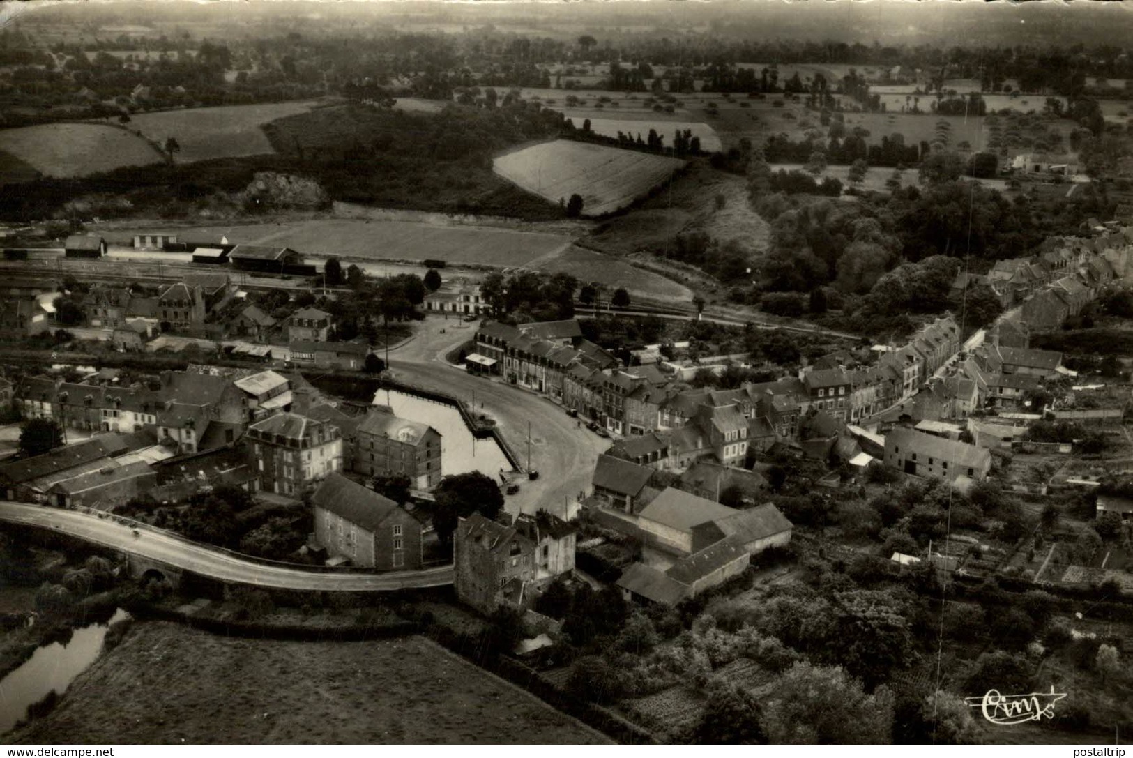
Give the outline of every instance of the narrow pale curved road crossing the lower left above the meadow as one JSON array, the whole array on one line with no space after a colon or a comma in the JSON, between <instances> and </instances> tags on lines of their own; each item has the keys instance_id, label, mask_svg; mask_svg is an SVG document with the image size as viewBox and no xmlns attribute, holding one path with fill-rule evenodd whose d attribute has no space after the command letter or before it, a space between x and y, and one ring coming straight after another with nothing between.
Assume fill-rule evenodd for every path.
<instances>
[{"instance_id":1,"label":"narrow pale curved road crossing the lower left above the meadow","mask_svg":"<svg viewBox=\"0 0 1133 758\"><path fill-rule=\"evenodd\" d=\"M202 577L271 589L326 591L390 591L452 584L452 567L387 573L326 573L266 565L190 543L172 535L130 527L77 511L33 503L0 502L0 520L65 531L92 543L165 563Z\"/></svg>"}]
</instances>

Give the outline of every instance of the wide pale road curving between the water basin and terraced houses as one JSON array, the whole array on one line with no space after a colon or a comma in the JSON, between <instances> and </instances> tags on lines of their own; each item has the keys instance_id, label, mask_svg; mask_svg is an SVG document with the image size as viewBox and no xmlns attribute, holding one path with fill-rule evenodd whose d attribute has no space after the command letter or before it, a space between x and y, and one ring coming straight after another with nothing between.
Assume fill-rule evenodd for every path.
<instances>
[{"instance_id":1,"label":"wide pale road curving between the water basin and terraced houses","mask_svg":"<svg viewBox=\"0 0 1133 758\"><path fill-rule=\"evenodd\" d=\"M417 333L390 351L390 375L407 384L444 392L471 403L476 412L494 418L500 433L527 467L527 429L531 429L531 468L539 478L523 479L516 495L508 495L505 510L516 514L544 509L569 516L579 492L589 489L598 453L610 448L605 440L566 415L562 406L545 395L519 386L468 374L449 364L444 356L472 339L478 324L458 318L428 316L416 325ZM441 330L444 330L442 333ZM425 420L425 419L415 419ZM489 476L492 471L485 471Z\"/></svg>"}]
</instances>

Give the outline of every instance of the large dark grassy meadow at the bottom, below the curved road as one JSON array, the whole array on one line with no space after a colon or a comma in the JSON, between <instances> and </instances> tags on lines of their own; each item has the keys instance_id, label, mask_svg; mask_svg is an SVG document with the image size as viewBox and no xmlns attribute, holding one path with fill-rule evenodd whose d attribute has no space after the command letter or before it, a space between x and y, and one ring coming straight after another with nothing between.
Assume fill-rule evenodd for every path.
<instances>
[{"instance_id":1,"label":"large dark grassy meadow at the bottom, below the curved road","mask_svg":"<svg viewBox=\"0 0 1133 758\"><path fill-rule=\"evenodd\" d=\"M296 642L144 622L17 739L67 743L605 743L420 637Z\"/></svg>"}]
</instances>

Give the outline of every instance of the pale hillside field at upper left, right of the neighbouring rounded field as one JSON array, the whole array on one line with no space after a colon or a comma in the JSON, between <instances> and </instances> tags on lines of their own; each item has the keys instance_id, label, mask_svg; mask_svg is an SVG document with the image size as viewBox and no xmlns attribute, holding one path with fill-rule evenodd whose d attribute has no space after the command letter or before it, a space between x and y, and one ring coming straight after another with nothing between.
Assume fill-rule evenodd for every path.
<instances>
[{"instance_id":1,"label":"pale hillside field at upper left, right of the neighbouring rounded field","mask_svg":"<svg viewBox=\"0 0 1133 758\"><path fill-rule=\"evenodd\" d=\"M214 157L237 157L274 153L259 127L275 119L306 113L317 101L188 108L131 117L130 127L160 145L173 137L181 146L177 163Z\"/></svg>"}]
</instances>

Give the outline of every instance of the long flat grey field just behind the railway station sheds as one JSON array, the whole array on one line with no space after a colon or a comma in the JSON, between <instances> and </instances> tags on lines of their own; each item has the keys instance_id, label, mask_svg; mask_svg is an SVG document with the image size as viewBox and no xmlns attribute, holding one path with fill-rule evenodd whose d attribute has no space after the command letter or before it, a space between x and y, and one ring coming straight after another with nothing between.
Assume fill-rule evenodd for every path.
<instances>
[{"instance_id":1,"label":"long flat grey field just behind the railway station sheds","mask_svg":"<svg viewBox=\"0 0 1133 758\"><path fill-rule=\"evenodd\" d=\"M135 233L171 233L185 238L221 236L233 244L280 245L309 256L423 261L450 264L522 266L565 247L570 237L484 227L429 224L415 221L312 219L281 223L168 229L116 229L114 239Z\"/></svg>"}]
</instances>

